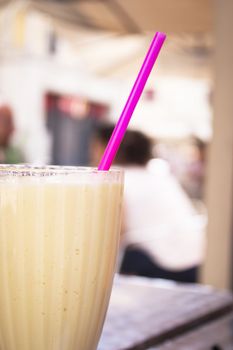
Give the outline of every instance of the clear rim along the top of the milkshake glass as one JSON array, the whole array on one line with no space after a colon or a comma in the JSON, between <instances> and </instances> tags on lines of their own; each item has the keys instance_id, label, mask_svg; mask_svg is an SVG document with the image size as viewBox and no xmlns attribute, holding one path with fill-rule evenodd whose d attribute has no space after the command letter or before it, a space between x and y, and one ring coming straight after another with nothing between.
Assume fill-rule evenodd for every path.
<instances>
[{"instance_id":1,"label":"clear rim along the top of the milkshake glass","mask_svg":"<svg viewBox=\"0 0 233 350\"><path fill-rule=\"evenodd\" d=\"M33 164L0 164L1 176L58 176L58 175L78 175L78 174L122 174L123 169L112 167L108 171L98 170L91 166L69 166L69 165L33 165Z\"/></svg>"}]
</instances>

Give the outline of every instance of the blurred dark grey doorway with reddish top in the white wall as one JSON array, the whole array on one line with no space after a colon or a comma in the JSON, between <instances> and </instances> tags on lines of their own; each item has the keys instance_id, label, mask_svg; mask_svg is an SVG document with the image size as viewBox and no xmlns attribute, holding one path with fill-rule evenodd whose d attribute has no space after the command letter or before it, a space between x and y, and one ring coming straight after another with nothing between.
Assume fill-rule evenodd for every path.
<instances>
[{"instance_id":1,"label":"blurred dark grey doorway with reddish top in the white wall","mask_svg":"<svg viewBox=\"0 0 233 350\"><path fill-rule=\"evenodd\" d=\"M46 125L52 137L51 163L88 165L90 142L96 124L109 107L76 96L47 93Z\"/></svg>"}]
</instances>

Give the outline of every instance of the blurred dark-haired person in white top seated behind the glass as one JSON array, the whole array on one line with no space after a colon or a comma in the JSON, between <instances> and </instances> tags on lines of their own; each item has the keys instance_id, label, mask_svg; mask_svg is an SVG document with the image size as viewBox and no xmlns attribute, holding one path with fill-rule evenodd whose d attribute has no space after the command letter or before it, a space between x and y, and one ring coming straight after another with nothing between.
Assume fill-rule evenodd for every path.
<instances>
[{"instance_id":1,"label":"blurred dark-haired person in white top seated behind the glass","mask_svg":"<svg viewBox=\"0 0 233 350\"><path fill-rule=\"evenodd\" d=\"M95 165L112 131L109 125L97 130ZM128 130L115 159L125 169L120 273L195 282L203 257L203 223L167 163L151 158L150 139Z\"/></svg>"}]
</instances>

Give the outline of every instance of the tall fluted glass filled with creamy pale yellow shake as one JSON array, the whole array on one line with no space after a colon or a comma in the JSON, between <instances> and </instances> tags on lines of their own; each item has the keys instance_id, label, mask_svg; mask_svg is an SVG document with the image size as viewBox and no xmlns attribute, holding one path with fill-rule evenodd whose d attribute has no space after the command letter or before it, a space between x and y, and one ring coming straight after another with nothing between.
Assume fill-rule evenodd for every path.
<instances>
[{"instance_id":1,"label":"tall fluted glass filled with creamy pale yellow shake","mask_svg":"<svg viewBox=\"0 0 233 350\"><path fill-rule=\"evenodd\" d=\"M94 350L117 255L123 173L0 166L0 349Z\"/></svg>"}]
</instances>

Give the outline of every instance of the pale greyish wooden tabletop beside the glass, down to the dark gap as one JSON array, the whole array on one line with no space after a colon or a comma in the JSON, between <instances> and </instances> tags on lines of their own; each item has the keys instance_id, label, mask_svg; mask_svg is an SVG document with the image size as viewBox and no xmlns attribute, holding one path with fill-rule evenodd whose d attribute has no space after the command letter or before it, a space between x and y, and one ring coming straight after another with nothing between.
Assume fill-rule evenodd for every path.
<instances>
[{"instance_id":1,"label":"pale greyish wooden tabletop beside the glass, down to the dark gap","mask_svg":"<svg viewBox=\"0 0 233 350\"><path fill-rule=\"evenodd\" d=\"M228 317L232 309L227 291L116 276L98 350L160 349L168 340Z\"/></svg>"}]
</instances>

